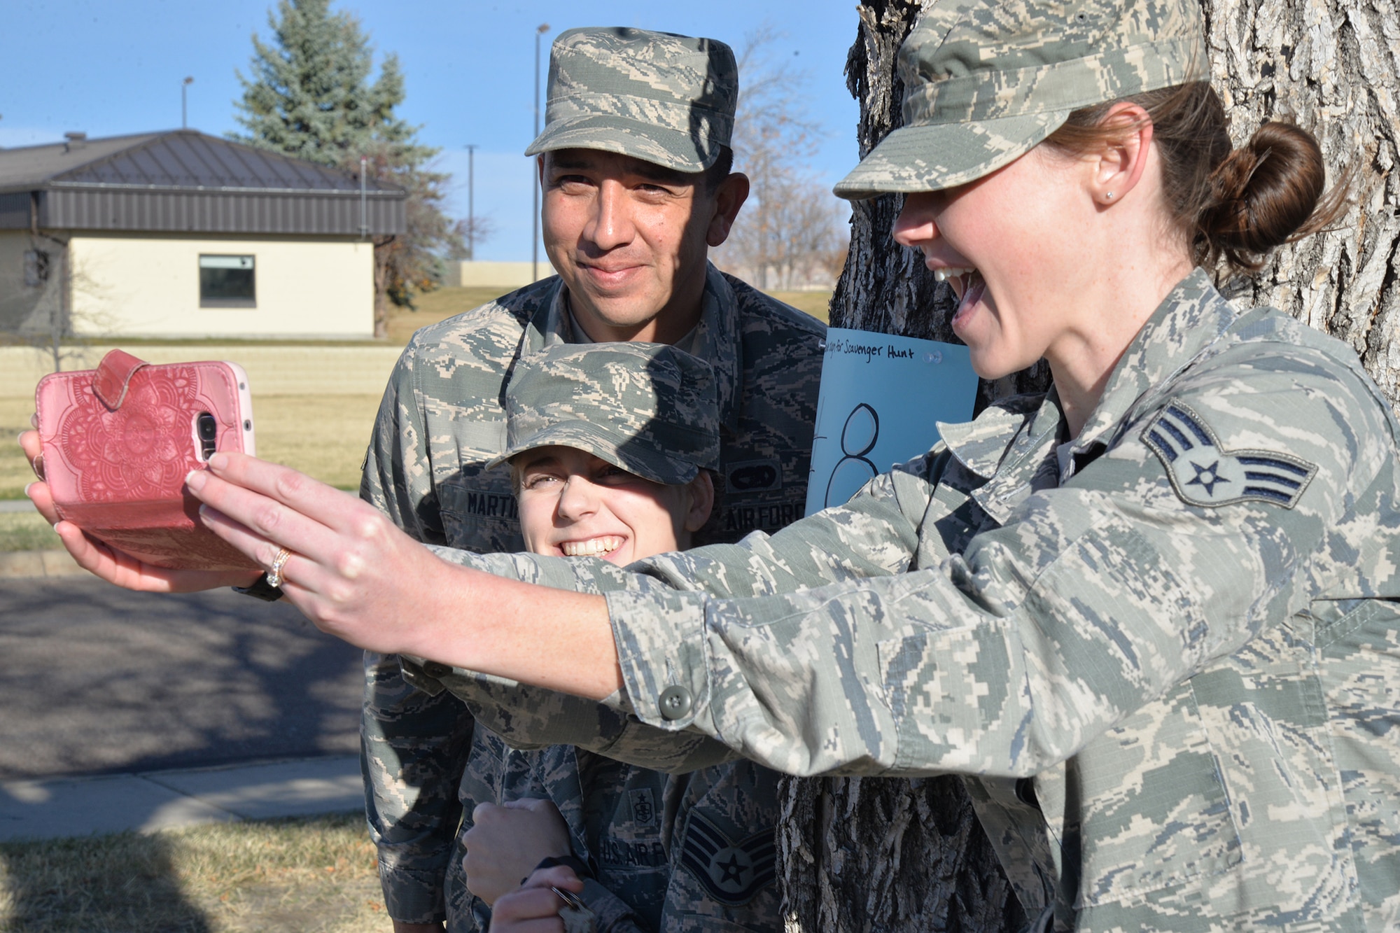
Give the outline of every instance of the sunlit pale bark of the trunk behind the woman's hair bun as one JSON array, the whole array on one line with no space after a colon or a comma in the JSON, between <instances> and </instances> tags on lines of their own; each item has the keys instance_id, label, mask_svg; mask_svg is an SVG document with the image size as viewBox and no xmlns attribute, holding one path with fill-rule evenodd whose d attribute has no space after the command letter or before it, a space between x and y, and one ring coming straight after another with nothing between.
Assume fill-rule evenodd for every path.
<instances>
[{"instance_id":1,"label":"sunlit pale bark of the trunk behind the woman's hair bun","mask_svg":"<svg viewBox=\"0 0 1400 933\"><path fill-rule=\"evenodd\" d=\"M1204 0L1211 81L1239 144L1264 120L1322 143L1351 209L1284 247L1231 296L1271 304L1352 346L1392 406L1400 396L1400 15L1394 0Z\"/></svg>"}]
</instances>

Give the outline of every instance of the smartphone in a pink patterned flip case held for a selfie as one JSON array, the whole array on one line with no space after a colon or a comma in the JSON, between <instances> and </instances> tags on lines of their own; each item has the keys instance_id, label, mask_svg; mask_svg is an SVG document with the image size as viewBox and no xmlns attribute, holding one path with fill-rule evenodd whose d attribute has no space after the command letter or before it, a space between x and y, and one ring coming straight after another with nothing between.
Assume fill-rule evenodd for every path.
<instances>
[{"instance_id":1,"label":"smartphone in a pink patterned flip case held for a selfie","mask_svg":"<svg viewBox=\"0 0 1400 933\"><path fill-rule=\"evenodd\" d=\"M161 567L258 569L204 528L185 489L216 451L256 452L241 366L153 366L112 350L95 370L45 375L35 406L59 517Z\"/></svg>"}]
</instances>

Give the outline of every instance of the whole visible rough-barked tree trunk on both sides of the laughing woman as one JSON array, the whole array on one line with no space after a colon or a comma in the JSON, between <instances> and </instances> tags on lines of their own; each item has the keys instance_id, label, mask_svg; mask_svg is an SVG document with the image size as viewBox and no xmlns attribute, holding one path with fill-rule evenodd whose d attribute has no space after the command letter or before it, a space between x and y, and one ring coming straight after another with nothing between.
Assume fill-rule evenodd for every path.
<instances>
[{"instance_id":1,"label":"whole visible rough-barked tree trunk on both sides of the laughing woman","mask_svg":"<svg viewBox=\"0 0 1400 933\"><path fill-rule=\"evenodd\" d=\"M1232 296L1271 304L1351 343L1400 396L1400 20L1394 0L1201 0L1210 77L1236 144L1266 119L1317 134L1330 177L1351 172L1334 230L1281 249ZM921 4L865 0L846 63L864 157L902 123L895 56ZM833 326L956 340L951 290L889 237L900 198L854 205ZM1392 350L1392 347L1394 347ZM994 384L979 406L1042 391L1039 364ZM780 877L788 927L820 932L1002 930L1025 925L956 778L785 779Z\"/></svg>"}]
</instances>

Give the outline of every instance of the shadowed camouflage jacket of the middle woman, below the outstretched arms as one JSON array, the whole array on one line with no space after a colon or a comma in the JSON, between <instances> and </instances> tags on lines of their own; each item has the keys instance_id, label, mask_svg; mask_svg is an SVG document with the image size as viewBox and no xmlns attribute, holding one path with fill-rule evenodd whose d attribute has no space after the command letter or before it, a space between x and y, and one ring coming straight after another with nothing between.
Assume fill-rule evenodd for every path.
<instances>
[{"instance_id":1,"label":"shadowed camouflage jacket of the middle woman, below the outstretched arms","mask_svg":"<svg viewBox=\"0 0 1400 933\"><path fill-rule=\"evenodd\" d=\"M776 876L777 773L735 762L666 775L553 745L521 751L477 728L462 780L470 829L477 803L546 799L568 824L594 877L580 895L598 933L783 929ZM490 908L448 884L448 929L487 929Z\"/></svg>"}]
</instances>

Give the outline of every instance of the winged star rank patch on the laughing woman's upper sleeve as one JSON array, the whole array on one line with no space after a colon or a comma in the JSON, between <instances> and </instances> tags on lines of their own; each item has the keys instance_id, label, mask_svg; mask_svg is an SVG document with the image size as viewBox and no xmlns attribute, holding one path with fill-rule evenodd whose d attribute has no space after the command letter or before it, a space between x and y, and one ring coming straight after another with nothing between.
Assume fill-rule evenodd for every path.
<instances>
[{"instance_id":1,"label":"winged star rank patch on the laughing woman's upper sleeve","mask_svg":"<svg viewBox=\"0 0 1400 933\"><path fill-rule=\"evenodd\" d=\"M1268 450L1225 450L1194 410L1172 402L1142 430L1142 443L1162 458L1172 489L1193 506L1268 502L1298 504L1316 464Z\"/></svg>"}]
</instances>

